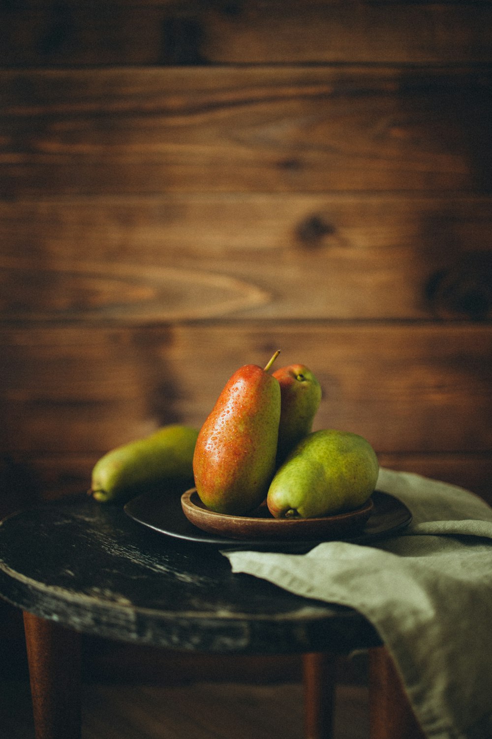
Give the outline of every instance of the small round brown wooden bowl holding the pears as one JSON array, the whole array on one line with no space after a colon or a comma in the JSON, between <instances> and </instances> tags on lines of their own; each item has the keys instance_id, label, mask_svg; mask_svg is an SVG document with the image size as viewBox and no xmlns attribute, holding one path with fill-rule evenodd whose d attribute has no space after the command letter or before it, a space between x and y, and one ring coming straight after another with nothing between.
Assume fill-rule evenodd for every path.
<instances>
[{"instance_id":1,"label":"small round brown wooden bowl holding the pears","mask_svg":"<svg viewBox=\"0 0 492 739\"><path fill-rule=\"evenodd\" d=\"M373 499L355 511L322 518L274 518L266 505L249 516L230 516L210 511L201 502L196 488L191 488L181 495L181 508L187 519L202 531L231 539L328 541L344 539L360 531L373 510Z\"/></svg>"}]
</instances>

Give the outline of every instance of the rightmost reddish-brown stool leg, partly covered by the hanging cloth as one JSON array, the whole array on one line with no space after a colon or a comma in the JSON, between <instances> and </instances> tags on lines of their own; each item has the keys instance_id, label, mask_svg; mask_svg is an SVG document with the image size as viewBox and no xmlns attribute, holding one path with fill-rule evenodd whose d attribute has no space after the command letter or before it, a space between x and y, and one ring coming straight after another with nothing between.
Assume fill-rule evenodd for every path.
<instances>
[{"instance_id":1,"label":"rightmost reddish-brown stool leg, partly covered by the hanging cloth","mask_svg":"<svg viewBox=\"0 0 492 739\"><path fill-rule=\"evenodd\" d=\"M426 739L385 647L369 650L370 739Z\"/></svg>"}]
</instances>

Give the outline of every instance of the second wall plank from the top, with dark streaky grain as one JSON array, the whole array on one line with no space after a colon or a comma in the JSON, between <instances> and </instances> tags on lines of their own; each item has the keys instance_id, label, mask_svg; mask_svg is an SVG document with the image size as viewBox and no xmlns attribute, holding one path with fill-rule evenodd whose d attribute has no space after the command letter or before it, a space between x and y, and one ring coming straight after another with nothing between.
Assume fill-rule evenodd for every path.
<instances>
[{"instance_id":1,"label":"second wall plank from the top, with dark streaky grain","mask_svg":"<svg viewBox=\"0 0 492 739\"><path fill-rule=\"evenodd\" d=\"M490 88L460 67L7 71L0 195L488 191Z\"/></svg>"}]
</instances>

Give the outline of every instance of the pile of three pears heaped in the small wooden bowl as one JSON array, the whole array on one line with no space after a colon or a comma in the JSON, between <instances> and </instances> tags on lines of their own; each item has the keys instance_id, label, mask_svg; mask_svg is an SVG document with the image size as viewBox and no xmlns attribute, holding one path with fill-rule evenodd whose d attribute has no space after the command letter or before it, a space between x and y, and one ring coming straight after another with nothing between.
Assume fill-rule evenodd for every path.
<instances>
[{"instance_id":1,"label":"pile of three pears heaped in the small wooden bowl","mask_svg":"<svg viewBox=\"0 0 492 739\"><path fill-rule=\"evenodd\" d=\"M323 517L364 505L378 478L370 443L352 432L313 432L319 381L291 364L246 364L224 386L198 433L195 486L211 511L242 516L266 502L276 518Z\"/></svg>"}]
</instances>

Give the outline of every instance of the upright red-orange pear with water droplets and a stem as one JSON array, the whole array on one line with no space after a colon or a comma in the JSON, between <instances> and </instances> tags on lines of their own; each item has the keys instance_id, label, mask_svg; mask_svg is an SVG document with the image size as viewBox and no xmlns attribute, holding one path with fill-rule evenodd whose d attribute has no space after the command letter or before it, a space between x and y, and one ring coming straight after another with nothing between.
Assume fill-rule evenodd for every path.
<instances>
[{"instance_id":1,"label":"upright red-orange pear with water droplets and a stem","mask_svg":"<svg viewBox=\"0 0 492 739\"><path fill-rule=\"evenodd\" d=\"M198 434L195 486L211 511L244 515L266 498L275 471L280 384L266 367L246 364L227 381Z\"/></svg>"}]
</instances>

